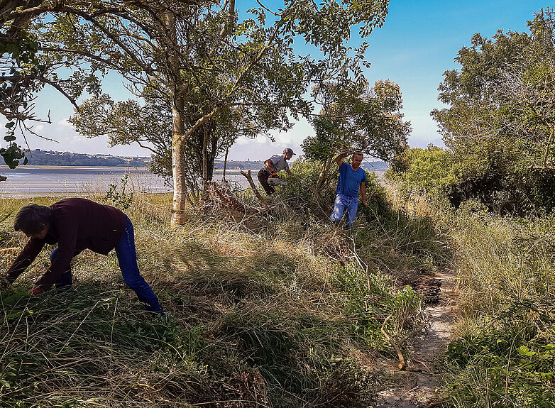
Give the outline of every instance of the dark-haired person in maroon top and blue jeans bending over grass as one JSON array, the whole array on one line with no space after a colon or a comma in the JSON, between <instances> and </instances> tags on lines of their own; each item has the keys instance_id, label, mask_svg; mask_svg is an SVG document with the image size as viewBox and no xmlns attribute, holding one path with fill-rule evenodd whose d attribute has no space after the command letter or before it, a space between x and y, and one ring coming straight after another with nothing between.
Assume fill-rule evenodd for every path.
<instances>
[{"instance_id":1,"label":"dark-haired person in maroon top and blue jeans bending over grass","mask_svg":"<svg viewBox=\"0 0 555 408\"><path fill-rule=\"evenodd\" d=\"M18 212L13 228L25 233L29 241L1 278L3 287L11 285L47 243L57 244L50 253L52 265L29 290L31 294L40 294L53 285L57 289L70 287L70 262L82 250L107 255L115 248L128 287L145 303L145 309L163 314L158 298L138 270L133 224L119 209L80 198L63 199L51 206L30 204Z\"/></svg>"}]
</instances>

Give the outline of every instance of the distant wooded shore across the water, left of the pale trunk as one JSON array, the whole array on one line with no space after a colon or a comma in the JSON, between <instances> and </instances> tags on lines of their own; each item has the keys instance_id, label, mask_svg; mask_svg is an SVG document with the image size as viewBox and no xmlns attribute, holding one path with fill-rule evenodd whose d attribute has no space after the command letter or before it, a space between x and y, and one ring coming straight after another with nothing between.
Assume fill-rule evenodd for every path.
<instances>
[{"instance_id":1,"label":"distant wooded shore across the water, left of the pale trunk","mask_svg":"<svg viewBox=\"0 0 555 408\"><path fill-rule=\"evenodd\" d=\"M89 166L89 167L146 167L148 157L119 157L111 155L87 155L83 153L31 150L27 153L29 165L35 166Z\"/></svg>"}]
</instances>

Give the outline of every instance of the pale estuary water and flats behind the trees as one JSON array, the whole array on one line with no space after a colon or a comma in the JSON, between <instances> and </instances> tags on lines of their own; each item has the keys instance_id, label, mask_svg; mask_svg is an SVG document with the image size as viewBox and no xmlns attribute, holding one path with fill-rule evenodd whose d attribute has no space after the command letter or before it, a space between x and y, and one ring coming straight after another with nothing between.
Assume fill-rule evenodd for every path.
<instances>
[{"instance_id":1,"label":"pale estuary water and flats behind the trees","mask_svg":"<svg viewBox=\"0 0 555 408\"><path fill-rule=\"evenodd\" d=\"M145 193L172 192L172 187L141 167L77 167L77 166L18 166L2 165L0 175L8 177L0 182L0 197L37 197L67 194L104 193L109 184L120 186L123 175L128 175L127 188ZM214 172L214 180L221 180L222 171ZM255 177L255 174L253 175ZM227 170L226 179L246 188L248 182L239 170Z\"/></svg>"}]
</instances>

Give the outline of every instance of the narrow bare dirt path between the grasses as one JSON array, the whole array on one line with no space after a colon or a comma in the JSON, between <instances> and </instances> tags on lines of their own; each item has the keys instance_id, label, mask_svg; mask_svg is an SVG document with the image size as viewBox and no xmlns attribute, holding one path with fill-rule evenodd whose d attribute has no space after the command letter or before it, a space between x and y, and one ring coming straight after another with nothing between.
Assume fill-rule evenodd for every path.
<instances>
[{"instance_id":1,"label":"narrow bare dirt path between the grasses","mask_svg":"<svg viewBox=\"0 0 555 408\"><path fill-rule=\"evenodd\" d=\"M455 276L449 273L434 275L434 281L439 281L441 289L439 302L426 308L429 329L412 342L407 371L392 373L397 385L378 393L375 408L442 406L444 396L438 390L436 359L444 353L451 338L455 319Z\"/></svg>"}]
</instances>

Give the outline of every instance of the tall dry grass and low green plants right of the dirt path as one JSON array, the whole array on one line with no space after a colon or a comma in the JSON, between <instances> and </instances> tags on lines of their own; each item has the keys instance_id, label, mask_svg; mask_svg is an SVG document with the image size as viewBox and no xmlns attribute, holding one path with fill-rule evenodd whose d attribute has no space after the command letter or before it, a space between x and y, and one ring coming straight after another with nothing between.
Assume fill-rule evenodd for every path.
<instances>
[{"instance_id":1,"label":"tall dry grass and low green plants right of the dirt path","mask_svg":"<svg viewBox=\"0 0 555 408\"><path fill-rule=\"evenodd\" d=\"M461 289L444 381L455 407L555 407L555 220L449 216Z\"/></svg>"}]
</instances>

